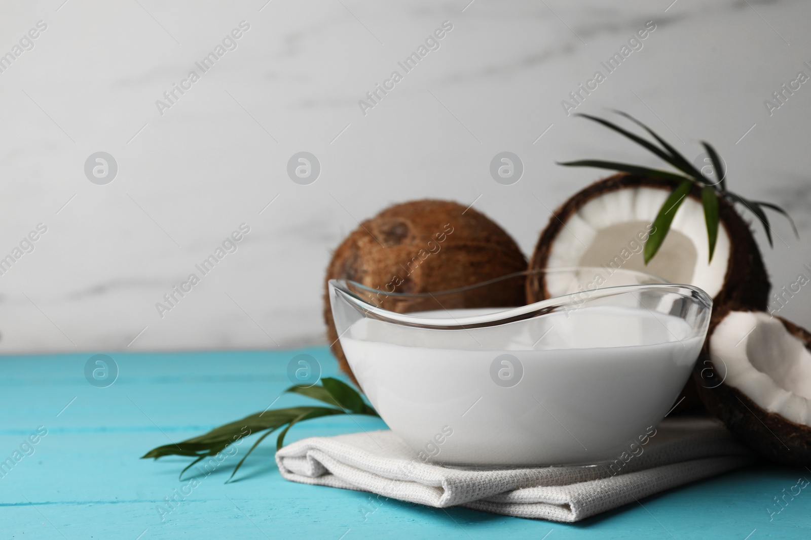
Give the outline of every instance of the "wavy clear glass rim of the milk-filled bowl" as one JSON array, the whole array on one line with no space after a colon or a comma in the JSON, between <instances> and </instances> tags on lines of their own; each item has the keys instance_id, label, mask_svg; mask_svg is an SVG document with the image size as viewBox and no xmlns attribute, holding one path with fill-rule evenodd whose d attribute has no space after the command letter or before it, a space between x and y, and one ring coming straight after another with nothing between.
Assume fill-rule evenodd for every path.
<instances>
[{"instance_id":1,"label":"wavy clear glass rim of the milk-filled bowl","mask_svg":"<svg viewBox=\"0 0 811 540\"><path fill-rule=\"evenodd\" d=\"M487 326L503 325L508 322L523 321L525 319L539 317L547 313L552 313L556 311L558 308L565 308L566 306L573 304L577 304L577 307L579 307L587 300L593 300L597 298L608 298L611 296L619 296L628 293L633 293L636 291L653 290L653 291L671 292L683 296L685 298L690 298L694 300L695 302L697 302L697 304L701 304L702 307L705 308L707 312L710 312L710 310L712 309L713 304L712 298L699 287L695 287L693 285L686 285L682 283L669 283L657 275L629 269L612 269L612 270L615 270L615 273L618 271L623 271L624 273L628 274L637 274L645 276L647 278L657 279L659 280L659 283L614 285L611 287L598 287L594 289L585 289L582 291L569 293L568 295L554 296L552 298L547 298L545 300L539 300L538 302L534 302L532 304L513 307L505 306L504 309L499 309L498 311L494 311L492 313L471 315L465 317L453 317L450 315L450 313L448 313L448 317L421 317L419 315L414 315L410 313L396 313L369 303L367 300L364 300L360 296L356 295L348 287L349 284L352 284L354 287L358 287L371 293L379 293L387 297L425 298L431 296L434 297L434 299L436 300L436 296L439 295L457 293L461 291L469 291L477 287L484 287L486 285L497 283L505 279L515 278L520 275L526 276L530 274L552 274L552 273L573 272L577 270L605 270L605 269L599 266L569 266L569 267L556 267L539 270L523 270L521 272L513 272L512 274L505 274L504 276L501 276L499 278L488 279L487 281L483 281L481 283L474 283L473 285L469 285L467 287L458 287L456 289L448 289L447 291L434 291L422 293L393 293L388 291L380 291L378 289L367 287L362 283L357 283L349 279L330 279L328 281L328 287L331 293L330 298L333 298L333 296L336 294L341 295L341 297L349 301L350 304L354 304L355 307L362 309L364 312L364 317L368 317L368 315L371 315L372 316L371 318L380 321L388 321L397 325L415 326L418 328L425 328L431 330L470 330L471 328L482 328ZM584 296L586 297L584 298ZM437 302L439 302L439 300L437 300ZM448 310L446 309L445 311ZM709 320L709 317L707 317L707 319Z\"/></svg>"}]
</instances>

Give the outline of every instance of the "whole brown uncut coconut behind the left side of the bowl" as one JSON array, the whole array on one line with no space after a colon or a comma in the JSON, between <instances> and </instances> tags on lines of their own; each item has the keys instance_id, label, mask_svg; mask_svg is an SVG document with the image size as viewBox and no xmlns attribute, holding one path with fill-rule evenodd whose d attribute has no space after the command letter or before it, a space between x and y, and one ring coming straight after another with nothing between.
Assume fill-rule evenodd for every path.
<instances>
[{"instance_id":1,"label":"whole brown uncut coconut behind the left side of the bowl","mask_svg":"<svg viewBox=\"0 0 811 540\"><path fill-rule=\"evenodd\" d=\"M355 384L333 322L327 283L349 279L380 291L448 291L526 270L526 257L504 229L487 216L457 202L424 199L403 202L367 219L333 253L324 279L327 337L341 369ZM480 308L524 304L523 279L510 279L487 293L458 296L444 308ZM417 311L383 305L394 311ZM424 306L423 309L436 309Z\"/></svg>"}]
</instances>

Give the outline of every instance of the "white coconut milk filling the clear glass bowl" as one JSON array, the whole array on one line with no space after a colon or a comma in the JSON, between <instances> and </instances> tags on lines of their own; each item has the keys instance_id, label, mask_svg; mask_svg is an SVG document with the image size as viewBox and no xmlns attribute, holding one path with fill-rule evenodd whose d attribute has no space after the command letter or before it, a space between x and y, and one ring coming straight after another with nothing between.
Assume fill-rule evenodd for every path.
<instances>
[{"instance_id":1,"label":"white coconut milk filling the clear glass bowl","mask_svg":"<svg viewBox=\"0 0 811 540\"><path fill-rule=\"evenodd\" d=\"M514 465L612 458L667 413L702 342L679 317L596 306L470 330L362 319L341 347L372 405L413 449L449 426L436 461ZM508 460L493 440L511 445Z\"/></svg>"}]
</instances>

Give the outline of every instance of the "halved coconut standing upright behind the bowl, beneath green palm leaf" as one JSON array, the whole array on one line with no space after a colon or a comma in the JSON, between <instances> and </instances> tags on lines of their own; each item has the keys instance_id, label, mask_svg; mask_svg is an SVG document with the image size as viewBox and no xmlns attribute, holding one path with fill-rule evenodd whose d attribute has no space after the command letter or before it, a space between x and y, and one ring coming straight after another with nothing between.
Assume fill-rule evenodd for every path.
<instances>
[{"instance_id":1,"label":"halved coconut standing upright behind the bowl, beneath green palm leaf","mask_svg":"<svg viewBox=\"0 0 811 540\"><path fill-rule=\"evenodd\" d=\"M650 261L649 265L644 264L642 253L639 252L642 251L642 244L647 238L647 231L642 227L646 223L650 226L666 193L672 192L676 185L676 181L620 173L587 186L575 193L552 214L530 259L530 270L560 266L561 257L553 256L553 250L557 249L556 253L564 254L569 251L566 244L561 244L564 249L558 245L561 240L569 241L569 246L573 248L570 251L573 252L581 249L581 245L588 244L588 240L585 243L577 240L576 243L568 237L575 234L573 229L577 228L578 221L590 219L594 223L611 223L611 225L604 226L603 230L594 236L591 244L586 246L586 253L579 260L570 261L573 264L565 266L603 265L608 269L609 266L624 265L625 268L658 274L673 283L698 285L705 288L713 297L714 313L719 308L730 304L765 309L770 283L760 251L757 249L757 243L749 229L749 224L724 198L719 198L719 239L725 237L726 240L719 240L714 253L714 266L711 271L715 273L715 290L710 290L713 287L697 283L699 266L706 266L704 272L710 271L706 260L696 256L697 249L706 249L706 233L702 240L696 240L696 231L701 231L701 227L704 227L703 214L698 215L699 212L703 212L701 188L698 185L693 186L688 196L697 204L691 205L689 201L684 201L677 210L672 228L659 249L659 253ZM651 193L656 194L656 192L651 192L650 189L662 190L663 193L656 199L651 197ZM624 192L629 194L629 197L618 196L623 190L629 190ZM654 201L654 199L656 200ZM586 205L590 205L588 207L594 209L592 215L582 215ZM690 211L689 206L697 210L694 210L695 215L687 220L683 215L684 212ZM613 213L613 215L605 214L603 218L596 215L595 219L595 213L599 214L599 212ZM680 223L680 219L683 222L689 221L689 223ZM678 230L679 226L693 227L690 229L693 231L692 241ZM694 227L698 227L698 229ZM636 235L634 235L635 232ZM586 237L584 236L584 238ZM723 249L722 243L725 246ZM639 251L634 250L634 247L639 247ZM633 255L626 258L625 254L631 253L629 249L633 250ZM690 260L693 262L685 262ZM609 265L606 265L607 261L611 261ZM614 261L618 261L618 263L614 263ZM693 270L689 268L689 264L693 264ZM724 264L725 268L720 266ZM706 277L706 274L704 275ZM544 300L550 296L556 295L547 290L543 274L530 274L526 280L527 303ZM684 400L677 406L675 413L693 410L701 406L692 380L688 381L682 395Z\"/></svg>"}]
</instances>

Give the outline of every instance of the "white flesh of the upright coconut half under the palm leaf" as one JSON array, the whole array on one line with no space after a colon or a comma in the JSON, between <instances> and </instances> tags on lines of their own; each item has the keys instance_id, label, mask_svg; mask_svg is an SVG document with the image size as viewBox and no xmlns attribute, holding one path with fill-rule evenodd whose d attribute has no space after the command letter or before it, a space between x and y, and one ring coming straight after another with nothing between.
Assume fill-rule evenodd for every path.
<instances>
[{"instance_id":1,"label":"white flesh of the upright coconut half under the palm leaf","mask_svg":"<svg viewBox=\"0 0 811 540\"><path fill-rule=\"evenodd\" d=\"M712 262L702 203L686 198L659 252L645 265L642 249L650 223L670 191L650 187L616 189L586 202L564 222L552 241L547 268L598 266L606 273L624 268L655 274L671 283L700 287L715 297L723 287L730 239L723 223ZM570 281L547 279L551 296L571 292Z\"/></svg>"}]
</instances>

